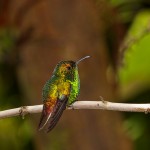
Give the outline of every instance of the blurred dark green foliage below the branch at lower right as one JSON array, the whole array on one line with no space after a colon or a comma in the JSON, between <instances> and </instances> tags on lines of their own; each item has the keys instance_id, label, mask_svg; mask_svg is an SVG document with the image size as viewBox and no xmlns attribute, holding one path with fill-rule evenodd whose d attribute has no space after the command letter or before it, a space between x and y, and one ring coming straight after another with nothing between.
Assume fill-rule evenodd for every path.
<instances>
[{"instance_id":1,"label":"blurred dark green foliage below the branch at lower right","mask_svg":"<svg viewBox=\"0 0 150 150\"><path fill-rule=\"evenodd\" d=\"M125 133L134 141L135 150L149 150L150 132L149 115L131 113L128 114L126 121L124 121Z\"/></svg>"}]
</instances>

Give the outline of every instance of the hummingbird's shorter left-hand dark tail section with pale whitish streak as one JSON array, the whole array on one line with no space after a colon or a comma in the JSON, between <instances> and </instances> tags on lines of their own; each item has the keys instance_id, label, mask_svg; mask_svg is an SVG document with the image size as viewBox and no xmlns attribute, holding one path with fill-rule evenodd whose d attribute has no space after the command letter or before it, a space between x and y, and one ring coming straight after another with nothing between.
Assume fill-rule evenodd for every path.
<instances>
[{"instance_id":1,"label":"hummingbird's shorter left-hand dark tail section with pale whitish streak","mask_svg":"<svg viewBox=\"0 0 150 150\"><path fill-rule=\"evenodd\" d=\"M45 109L45 107L43 106L43 110L42 110L42 114L41 114L41 119L40 119L40 123L38 126L38 130L42 130L44 128L44 126L47 124L48 120L50 119L51 113L48 113Z\"/></svg>"}]
</instances>

